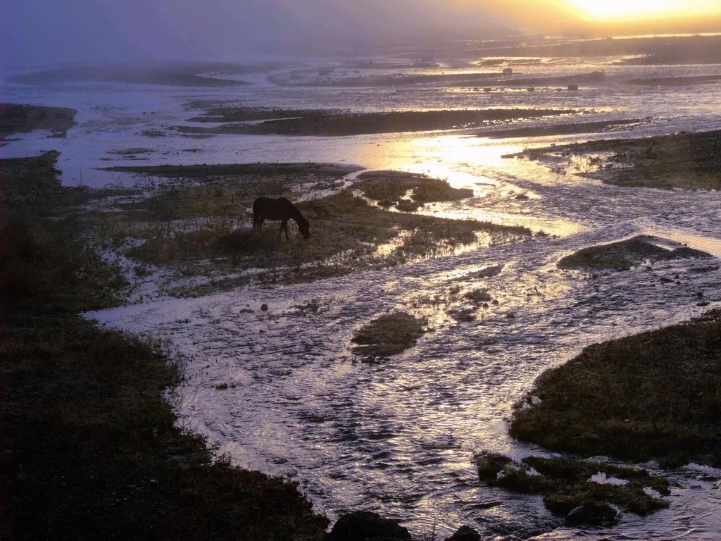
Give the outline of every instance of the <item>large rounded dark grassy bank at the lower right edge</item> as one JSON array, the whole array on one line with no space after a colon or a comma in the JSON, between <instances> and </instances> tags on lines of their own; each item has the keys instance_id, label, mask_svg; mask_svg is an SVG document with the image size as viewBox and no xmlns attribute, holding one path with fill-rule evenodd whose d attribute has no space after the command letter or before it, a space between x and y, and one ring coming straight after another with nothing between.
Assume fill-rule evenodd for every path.
<instances>
[{"instance_id":1,"label":"large rounded dark grassy bank at the lower right edge","mask_svg":"<svg viewBox=\"0 0 721 541\"><path fill-rule=\"evenodd\" d=\"M539 377L510 434L586 456L721 465L721 311L585 348Z\"/></svg>"}]
</instances>

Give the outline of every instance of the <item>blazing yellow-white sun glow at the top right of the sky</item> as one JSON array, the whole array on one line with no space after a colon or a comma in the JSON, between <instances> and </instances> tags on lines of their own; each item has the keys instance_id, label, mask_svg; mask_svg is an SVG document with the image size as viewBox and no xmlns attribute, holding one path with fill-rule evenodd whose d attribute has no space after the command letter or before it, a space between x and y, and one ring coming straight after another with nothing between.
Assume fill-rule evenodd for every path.
<instances>
[{"instance_id":1,"label":"blazing yellow-white sun glow at the top right of the sky","mask_svg":"<svg viewBox=\"0 0 721 541\"><path fill-rule=\"evenodd\" d=\"M571 0L593 19L640 19L673 17L720 11L718 0Z\"/></svg>"}]
</instances>

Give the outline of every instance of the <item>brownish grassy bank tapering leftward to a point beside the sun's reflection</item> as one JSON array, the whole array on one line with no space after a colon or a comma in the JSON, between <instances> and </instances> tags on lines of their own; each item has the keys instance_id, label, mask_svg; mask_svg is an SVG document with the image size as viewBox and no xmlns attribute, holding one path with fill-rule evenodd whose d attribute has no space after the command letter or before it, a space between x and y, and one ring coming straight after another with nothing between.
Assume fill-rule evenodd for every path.
<instances>
[{"instance_id":1,"label":"brownish grassy bank tapering leftward to a point beside the sun's reflection","mask_svg":"<svg viewBox=\"0 0 721 541\"><path fill-rule=\"evenodd\" d=\"M507 157L568 164L568 169L619 186L721 189L721 131L588 141L528 149Z\"/></svg>"}]
</instances>

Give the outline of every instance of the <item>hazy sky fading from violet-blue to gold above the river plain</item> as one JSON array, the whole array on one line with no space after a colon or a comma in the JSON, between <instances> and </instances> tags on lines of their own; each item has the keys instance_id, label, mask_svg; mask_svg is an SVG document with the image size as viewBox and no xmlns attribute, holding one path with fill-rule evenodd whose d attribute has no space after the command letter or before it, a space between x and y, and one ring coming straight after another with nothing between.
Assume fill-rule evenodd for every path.
<instances>
[{"instance_id":1,"label":"hazy sky fading from violet-blue to gold above the river plain","mask_svg":"<svg viewBox=\"0 0 721 541\"><path fill-rule=\"evenodd\" d=\"M242 61L572 26L581 17L721 11L719 0L0 0L6 66Z\"/></svg>"}]
</instances>

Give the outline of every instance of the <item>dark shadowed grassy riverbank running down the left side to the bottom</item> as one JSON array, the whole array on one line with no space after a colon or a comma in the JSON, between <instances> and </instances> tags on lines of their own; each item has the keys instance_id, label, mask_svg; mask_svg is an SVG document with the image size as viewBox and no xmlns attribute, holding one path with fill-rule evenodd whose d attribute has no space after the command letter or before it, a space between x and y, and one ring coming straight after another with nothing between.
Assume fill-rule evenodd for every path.
<instances>
[{"instance_id":1,"label":"dark shadowed grassy riverbank running down the left side to the bottom","mask_svg":"<svg viewBox=\"0 0 721 541\"><path fill-rule=\"evenodd\" d=\"M179 366L79 316L116 304L124 282L97 256L84 263L53 158L0 162L2 535L318 539L327 519L295 483L213 461L202 437L175 426L164 393Z\"/></svg>"}]
</instances>

